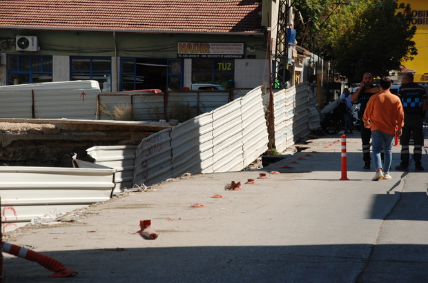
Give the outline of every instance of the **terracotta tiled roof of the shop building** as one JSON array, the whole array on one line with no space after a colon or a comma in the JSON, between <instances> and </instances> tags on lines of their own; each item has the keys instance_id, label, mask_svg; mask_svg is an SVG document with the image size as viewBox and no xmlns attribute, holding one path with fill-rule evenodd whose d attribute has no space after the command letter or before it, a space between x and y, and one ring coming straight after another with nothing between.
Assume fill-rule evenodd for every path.
<instances>
[{"instance_id":1,"label":"terracotta tiled roof of the shop building","mask_svg":"<svg viewBox=\"0 0 428 283\"><path fill-rule=\"evenodd\" d=\"M1 0L0 28L260 32L257 0Z\"/></svg>"}]
</instances>

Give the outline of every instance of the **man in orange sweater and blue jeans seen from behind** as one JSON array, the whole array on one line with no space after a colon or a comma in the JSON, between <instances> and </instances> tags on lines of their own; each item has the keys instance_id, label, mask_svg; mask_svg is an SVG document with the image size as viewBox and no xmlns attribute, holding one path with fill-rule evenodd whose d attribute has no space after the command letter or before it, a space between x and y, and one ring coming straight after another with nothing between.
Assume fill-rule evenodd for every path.
<instances>
[{"instance_id":1,"label":"man in orange sweater and blue jeans seen from behind","mask_svg":"<svg viewBox=\"0 0 428 283\"><path fill-rule=\"evenodd\" d=\"M362 116L364 127L371 129L371 146L373 147L373 162L376 166L376 175L373 181L379 179L391 179L389 168L392 162L392 144L396 134L401 135L401 128L404 125L404 112L400 98L389 92L391 79L382 77L379 83L380 92L372 95L367 103L367 108ZM384 166L380 159L380 151L384 150ZM382 172L382 168L384 172Z\"/></svg>"}]
</instances>

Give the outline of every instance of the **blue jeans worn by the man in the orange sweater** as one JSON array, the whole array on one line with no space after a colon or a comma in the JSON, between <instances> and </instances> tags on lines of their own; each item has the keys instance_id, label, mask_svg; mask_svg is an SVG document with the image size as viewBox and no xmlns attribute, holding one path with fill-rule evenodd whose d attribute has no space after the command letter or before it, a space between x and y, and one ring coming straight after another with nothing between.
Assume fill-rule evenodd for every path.
<instances>
[{"instance_id":1,"label":"blue jeans worn by the man in the orange sweater","mask_svg":"<svg viewBox=\"0 0 428 283\"><path fill-rule=\"evenodd\" d=\"M371 132L371 146L373 146L373 162L376 168L383 168L385 173L389 173L392 162L392 143L394 135L383 133L380 130L373 130ZM382 159L380 159L380 152L384 152L384 166L382 167Z\"/></svg>"}]
</instances>

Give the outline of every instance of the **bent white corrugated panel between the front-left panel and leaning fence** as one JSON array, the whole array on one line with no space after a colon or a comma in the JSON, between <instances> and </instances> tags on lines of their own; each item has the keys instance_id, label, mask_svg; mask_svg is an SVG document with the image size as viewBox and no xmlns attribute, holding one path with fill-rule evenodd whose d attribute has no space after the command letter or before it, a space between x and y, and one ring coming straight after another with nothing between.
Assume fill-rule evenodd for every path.
<instances>
[{"instance_id":1,"label":"bent white corrugated panel between the front-left panel and leaning fence","mask_svg":"<svg viewBox=\"0 0 428 283\"><path fill-rule=\"evenodd\" d=\"M137 146L93 146L86 152L95 159L95 164L115 168L113 195L133 187L135 149Z\"/></svg>"}]
</instances>

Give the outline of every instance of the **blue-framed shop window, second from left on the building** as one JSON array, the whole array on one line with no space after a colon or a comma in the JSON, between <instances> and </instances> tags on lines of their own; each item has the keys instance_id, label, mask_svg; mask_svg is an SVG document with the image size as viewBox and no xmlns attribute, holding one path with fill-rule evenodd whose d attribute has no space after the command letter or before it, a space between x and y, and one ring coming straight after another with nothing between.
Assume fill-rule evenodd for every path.
<instances>
[{"instance_id":1,"label":"blue-framed shop window, second from left on the building","mask_svg":"<svg viewBox=\"0 0 428 283\"><path fill-rule=\"evenodd\" d=\"M70 57L70 66L71 81L95 80L102 92L110 92L110 57Z\"/></svg>"}]
</instances>

